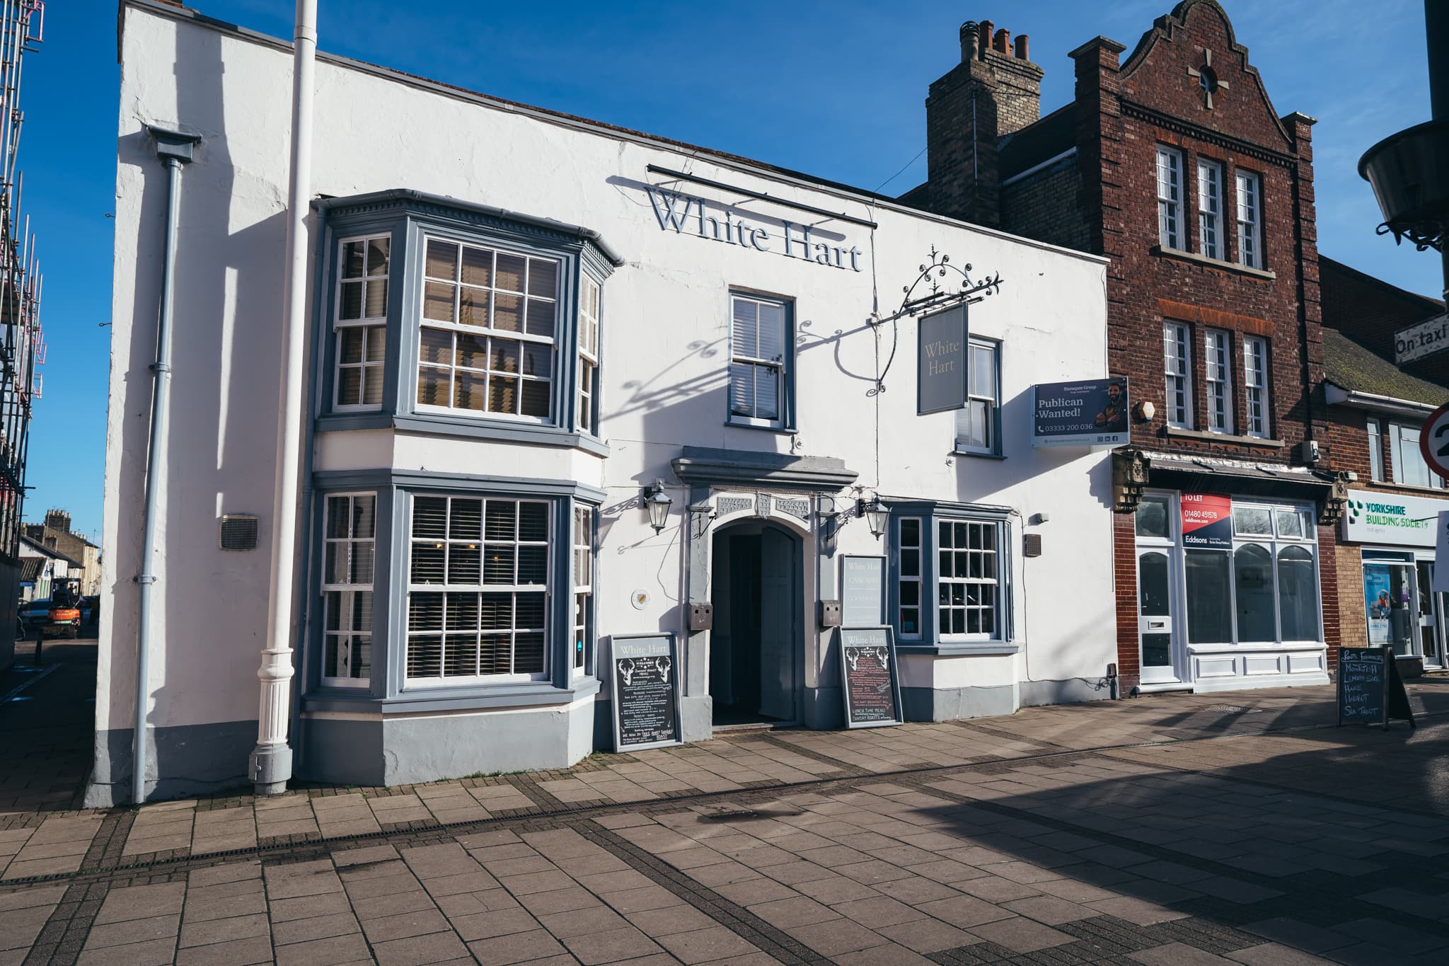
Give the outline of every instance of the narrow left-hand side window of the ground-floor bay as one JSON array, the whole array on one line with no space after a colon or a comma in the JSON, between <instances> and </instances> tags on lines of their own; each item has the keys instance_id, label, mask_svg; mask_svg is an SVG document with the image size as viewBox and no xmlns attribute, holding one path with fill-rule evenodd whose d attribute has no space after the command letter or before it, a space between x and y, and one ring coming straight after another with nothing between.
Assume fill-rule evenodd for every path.
<instances>
[{"instance_id":1,"label":"narrow left-hand side window of the ground-floor bay","mask_svg":"<svg viewBox=\"0 0 1449 966\"><path fill-rule=\"evenodd\" d=\"M329 495L323 513L322 682L367 686L372 676L377 497Z\"/></svg>"}]
</instances>

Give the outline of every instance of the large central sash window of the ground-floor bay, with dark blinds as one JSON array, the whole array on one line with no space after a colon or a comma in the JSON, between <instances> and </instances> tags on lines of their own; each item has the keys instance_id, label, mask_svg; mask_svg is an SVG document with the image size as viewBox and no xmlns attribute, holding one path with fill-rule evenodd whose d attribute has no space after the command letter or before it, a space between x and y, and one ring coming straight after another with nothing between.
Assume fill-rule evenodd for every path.
<instances>
[{"instance_id":1,"label":"large central sash window of the ground-floor bay, with dark blinds","mask_svg":"<svg viewBox=\"0 0 1449 966\"><path fill-rule=\"evenodd\" d=\"M539 500L412 498L409 684L543 678L549 507Z\"/></svg>"}]
</instances>

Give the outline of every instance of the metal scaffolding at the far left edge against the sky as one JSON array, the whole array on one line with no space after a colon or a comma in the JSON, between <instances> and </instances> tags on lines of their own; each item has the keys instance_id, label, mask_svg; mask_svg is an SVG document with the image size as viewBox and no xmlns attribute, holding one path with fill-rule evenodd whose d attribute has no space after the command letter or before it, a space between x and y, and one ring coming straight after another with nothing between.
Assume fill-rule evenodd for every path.
<instances>
[{"instance_id":1,"label":"metal scaffolding at the far left edge against the sky","mask_svg":"<svg viewBox=\"0 0 1449 966\"><path fill-rule=\"evenodd\" d=\"M0 0L0 555L19 555L30 408L41 397L41 258L20 213L20 75L45 35L41 0ZM6 601L9 602L9 601Z\"/></svg>"}]
</instances>

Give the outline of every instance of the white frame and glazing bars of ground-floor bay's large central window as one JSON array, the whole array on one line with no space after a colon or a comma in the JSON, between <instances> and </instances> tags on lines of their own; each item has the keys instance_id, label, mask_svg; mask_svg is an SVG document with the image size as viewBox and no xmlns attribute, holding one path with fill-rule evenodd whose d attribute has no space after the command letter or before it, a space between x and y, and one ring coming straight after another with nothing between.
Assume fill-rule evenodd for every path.
<instances>
[{"instance_id":1,"label":"white frame and glazing bars of ground-floor bay's large central window","mask_svg":"<svg viewBox=\"0 0 1449 966\"><path fill-rule=\"evenodd\" d=\"M416 536L413 536L413 520L414 520L416 501L420 500L420 498L425 498L425 500L446 500L448 501L448 508L446 508L446 516L445 516L445 523L443 523L443 526L445 526L445 534L446 536L442 540L436 540L435 537L416 537ZM511 504L516 505L516 510L514 510L514 537L511 540L488 540L485 536L483 536L480 540L477 540L480 543L478 584L448 584L446 582L448 581L448 552L449 552L449 549L455 543L464 543L464 545L468 543L468 537L456 537L455 539L452 536L452 526L451 526L452 524L452 504L454 504L455 500L468 500L468 501L477 500L477 501L483 503L481 514L483 514L483 521L484 521L483 523L483 526L484 526L484 534L487 533L487 518L488 518L488 507L487 507L487 504L490 501L493 501L493 503L511 503ZM545 518L546 526L548 526L548 533L546 533L546 536L545 536L543 540L520 540L517 537L517 517L519 517L517 507L520 507L522 504L542 504L543 505L543 508L545 508L545 517L543 518ZM407 563L406 563L406 566L407 566L407 584L406 584L406 587L407 587L407 592L406 592L404 600L403 600L403 627L404 627L403 637L404 637L404 642L406 642L404 643L404 652L403 652L403 682L404 682L406 688L439 688L439 686L448 688L448 686L458 686L458 685L509 684L509 682L522 682L522 681L548 681L549 679L549 669L552 666L552 656L549 653L552 650L552 647L549 644L551 644L551 642L554 639L552 637L554 627L552 627L552 620L551 620L552 614L549 613L551 607L552 607L552 604L551 604L552 592L551 591L552 591L552 582L554 582L554 553L555 553L554 542L551 539L554 536L554 523L555 523L554 521L554 501L551 501L551 500L536 500L536 498L529 498L529 497L496 495L496 494L469 494L469 495L452 495L452 494L436 494L436 492L410 492L409 494L409 500L407 500L407 529L404 532L407 534L407 537L406 537L406 546L407 546ZM414 543L427 543L427 542L440 542L445 546L443 582L440 582L440 584L419 584L419 582L414 582L414 579L413 579L413 559L412 559L413 558L413 545ZM484 571L484 568L485 568L484 555L487 553L487 545L488 543L497 543L497 545L510 543L513 546L513 552L514 552L514 563L513 563L513 566L514 566L514 576L517 575L517 569L516 568L517 568L517 550L519 550L519 547L520 546L545 546L546 552L545 552L545 563L543 563L543 568L545 568L543 569L543 584L517 584L517 582L513 582L513 584L487 584L487 582L484 582L484 574L485 574L485 571ZM439 595L443 597L443 626L440 629L438 629L436 631L435 630L413 630L413 627L409 624L409 620L410 620L410 616L412 616L412 597L413 597L413 594L439 594ZM525 627L525 629L520 629L520 627L514 626L514 627L510 627L507 630L507 633L511 634L511 636L514 636L513 639L510 639L510 666L517 659L517 640L516 640L516 636L520 634L520 633L540 633L543 636L543 668L540 671L536 671L536 672L475 673L475 675L448 675L448 673L440 673L439 676L426 676L426 678L425 676L417 676L417 678L410 676L409 671L407 671L407 660L409 660L409 649L412 649L414 637L430 637L430 636L442 637L443 639L443 649L445 650L443 650L443 653L442 653L442 656L439 659L439 671L442 671L442 669L445 669L448 666L448 659L446 659L448 594L475 594L475 595L483 595L483 594L509 594L509 595L513 595L514 616L517 614L517 595L519 594L540 594L543 597L543 626L542 627ZM514 618L514 623L516 623L516 618ZM487 633L488 629L474 627L474 629L468 629L468 630L471 630L471 633L481 642L483 634ZM504 631L503 630L496 630L494 633L504 633Z\"/></svg>"}]
</instances>

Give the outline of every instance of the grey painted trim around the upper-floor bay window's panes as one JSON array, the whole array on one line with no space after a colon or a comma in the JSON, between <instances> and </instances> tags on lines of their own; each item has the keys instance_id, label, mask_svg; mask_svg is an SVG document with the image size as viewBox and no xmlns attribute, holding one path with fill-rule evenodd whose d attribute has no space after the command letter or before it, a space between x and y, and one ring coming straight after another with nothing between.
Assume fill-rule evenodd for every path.
<instances>
[{"instance_id":1,"label":"grey painted trim around the upper-floor bay window's panes","mask_svg":"<svg viewBox=\"0 0 1449 966\"><path fill-rule=\"evenodd\" d=\"M572 446L606 456L609 449L596 432L578 427L578 304L582 277L604 282L617 264L611 253L601 251L601 240L587 229L562 226L546 219L510 216L509 213L456 203L409 191L383 191L356 198L332 198L323 203L326 219L317 271L314 320L317 337L314 358L316 430L351 429L410 429L442 436L471 439L504 439L526 443ZM388 300L387 339L383 378L383 403L377 411L332 411L336 381L336 311L338 240L356 235L388 235ZM559 262L558 320L554 340L554 372L551 392L551 423L526 423L498 417L467 416L462 413L426 413L416 407L417 345L422 319L423 236L503 248L523 255L551 258ZM606 365L604 342L607 319L600 298L598 358L600 372ZM594 407L604 404L601 379L596 377ZM593 420L597 430L597 416Z\"/></svg>"}]
</instances>

